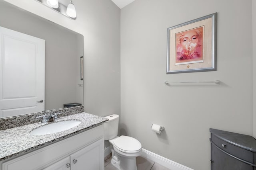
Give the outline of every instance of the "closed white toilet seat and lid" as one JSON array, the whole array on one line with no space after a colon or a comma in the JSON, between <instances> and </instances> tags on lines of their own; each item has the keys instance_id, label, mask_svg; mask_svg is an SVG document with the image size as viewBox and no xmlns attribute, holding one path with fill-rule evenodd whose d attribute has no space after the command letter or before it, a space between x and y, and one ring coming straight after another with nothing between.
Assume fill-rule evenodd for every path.
<instances>
[{"instance_id":1,"label":"closed white toilet seat and lid","mask_svg":"<svg viewBox=\"0 0 256 170\"><path fill-rule=\"evenodd\" d=\"M133 137L120 136L110 142L116 149L124 153L137 153L142 150L140 142Z\"/></svg>"}]
</instances>

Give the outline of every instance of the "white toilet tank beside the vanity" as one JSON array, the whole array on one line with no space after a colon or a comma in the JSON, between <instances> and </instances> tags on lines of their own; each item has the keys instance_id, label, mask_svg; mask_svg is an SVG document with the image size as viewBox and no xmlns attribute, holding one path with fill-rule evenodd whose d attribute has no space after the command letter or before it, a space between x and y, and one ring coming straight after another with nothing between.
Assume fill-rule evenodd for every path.
<instances>
[{"instance_id":1,"label":"white toilet tank beside the vanity","mask_svg":"<svg viewBox=\"0 0 256 170\"><path fill-rule=\"evenodd\" d=\"M104 140L110 140L117 136L119 115L108 115L104 122Z\"/></svg>"}]
</instances>

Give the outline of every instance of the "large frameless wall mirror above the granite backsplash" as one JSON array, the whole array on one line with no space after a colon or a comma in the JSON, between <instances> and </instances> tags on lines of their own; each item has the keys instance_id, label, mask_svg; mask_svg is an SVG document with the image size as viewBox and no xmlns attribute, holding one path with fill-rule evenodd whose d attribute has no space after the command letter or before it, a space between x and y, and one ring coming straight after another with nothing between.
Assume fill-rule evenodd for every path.
<instances>
[{"instance_id":1,"label":"large frameless wall mirror above the granite backsplash","mask_svg":"<svg viewBox=\"0 0 256 170\"><path fill-rule=\"evenodd\" d=\"M29 39L18 42L16 40L20 38L8 35L12 31L17 36L27 35ZM36 46L39 43L34 43L34 37L42 40L44 60L32 66L35 61L33 57L31 60L26 58L26 54L33 55L35 51L40 51ZM83 35L0 0L0 38L0 118L38 111L34 107L21 106L21 98L34 98L34 84L38 82L37 79L32 80L35 77L44 80L39 83L44 85L41 90L44 91L43 99L34 99L37 105L44 105L40 111L62 108L64 104L83 104L83 79L80 72L83 66L81 57L84 55ZM33 43L30 43L30 38ZM10 58L12 56L15 57ZM28 66L19 70L24 67L24 63ZM44 64L42 76L31 71L42 68L40 63ZM22 86L25 90L21 90ZM31 91L31 94L26 95L25 91ZM14 103L18 106L6 107Z\"/></svg>"}]
</instances>

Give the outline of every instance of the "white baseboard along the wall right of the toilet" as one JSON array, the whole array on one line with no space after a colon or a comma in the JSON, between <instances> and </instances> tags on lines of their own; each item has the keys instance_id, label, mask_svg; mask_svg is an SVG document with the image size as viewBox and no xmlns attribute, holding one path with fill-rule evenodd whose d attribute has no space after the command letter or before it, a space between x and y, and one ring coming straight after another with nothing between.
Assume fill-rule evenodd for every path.
<instances>
[{"instance_id":1,"label":"white baseboard along the wall right of the toilet","mask_svg":"<svg viewBox=\"0 0 256 170\"><path fill-rule=\"evenodd\" d=\"M165 166L170 170L193 170L191 168L188 168L187 166L174 162L170 159L164 158L163 156L150 152L149 150L146 149L142 149L141 156L146 159L152 160L162 166Z\"/></svg>"}]
</instances>

